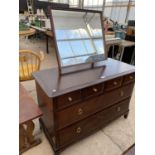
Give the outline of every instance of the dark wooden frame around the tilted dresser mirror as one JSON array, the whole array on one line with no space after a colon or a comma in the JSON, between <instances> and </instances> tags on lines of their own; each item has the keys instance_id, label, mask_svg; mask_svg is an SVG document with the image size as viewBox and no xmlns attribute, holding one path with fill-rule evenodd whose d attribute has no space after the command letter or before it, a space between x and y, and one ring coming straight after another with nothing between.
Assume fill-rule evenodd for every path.
<instances>
[{"instance_id":1,"label":"dark wooden frame around the tilted dresser mirror","mask_svg":"<svg viewBox=\"0 0 155 155\"><path fill-rule=\"evenodd\" d=\"M81 70L86 70L86 69L90 69L94 66L94 63L97 62L86 62L86 63L80 63L80 64L73 64L73 65L69 65L69 66L61 66L61 57L59 54L59 50L58 50L58 45L57 45L57 40L56 40L56 32L55 32L55 27L54 27L54 21L53 21L53 15L52 15L52 10L60 10L60 11L75 11L75 12L88 12L88 13L98 13L100 14L100 19L101 19L101 29L102 29L102 35L103 35L103 48L104 48L104 55L105 55L105 60L107 59L107 51L106 51L106 43L105 43L105 34L104 34L104 24L103 24L103 14L102 11L98 11L98 10L86 10L86 9L79 9L79 8L52 8L51 6L48 7L48 12L49 12L49 17L50 17L50 22L51 22L51 31L53 33L53 39L54 39L54 45L55 45L55 50L56 50L56 57L57 57L57 62L58 62L58 68L59 68L59 74L65 74L65 73L70 73L70 72L78 72ZM104 61L104 60L103 60ZM98 61L100 62L100 61ZM82 65L86 65L88 66L88 64L90 64L90 67L84 67L84 69L80 69L80 66ZM67 72L67 68L68 68L68 72ZM74 68L73 71L71 71L72 69L69 68ZM76 70L77 68L77 70ZM65 72L63 72L63 70L65 70Z\"/></svg>"}]
</instances>

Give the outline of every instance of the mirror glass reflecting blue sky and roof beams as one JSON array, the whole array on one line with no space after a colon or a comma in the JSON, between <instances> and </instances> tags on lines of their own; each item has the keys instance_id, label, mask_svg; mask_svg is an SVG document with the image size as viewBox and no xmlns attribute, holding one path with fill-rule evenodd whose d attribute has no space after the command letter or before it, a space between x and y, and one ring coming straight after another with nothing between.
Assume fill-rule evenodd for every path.
<instances>
[{"instance_id":1,"label":"mirror glass reflecting blue sky and roof beams","mask_svg":"<svg viewBox=\"0 0 155 155\"><path fill-rule=\"evenodd\" d=\"M105 60L100 12L51 10L61 67Z\"/></svg>"}]
</instances>

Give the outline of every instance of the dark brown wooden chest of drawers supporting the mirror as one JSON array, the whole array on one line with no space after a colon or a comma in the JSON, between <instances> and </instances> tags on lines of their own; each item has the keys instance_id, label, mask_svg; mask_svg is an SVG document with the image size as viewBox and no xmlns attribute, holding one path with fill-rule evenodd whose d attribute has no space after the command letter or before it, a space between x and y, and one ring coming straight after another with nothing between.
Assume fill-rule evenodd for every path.
<instances>
[{"instance_id":1,"label":"dark brown wooden chest of drawers supporting the mirror","mask_svg":"<svg viewBox=\"0 0 155 155\"><path fill-rule=\"evenodd\" d=\"M134 87L134 67L108 59L103 69L59 75L58 69L33 74L40 123L55 154L103 128L120 116L127 118Z\"/></svg>"}]
</instances>

